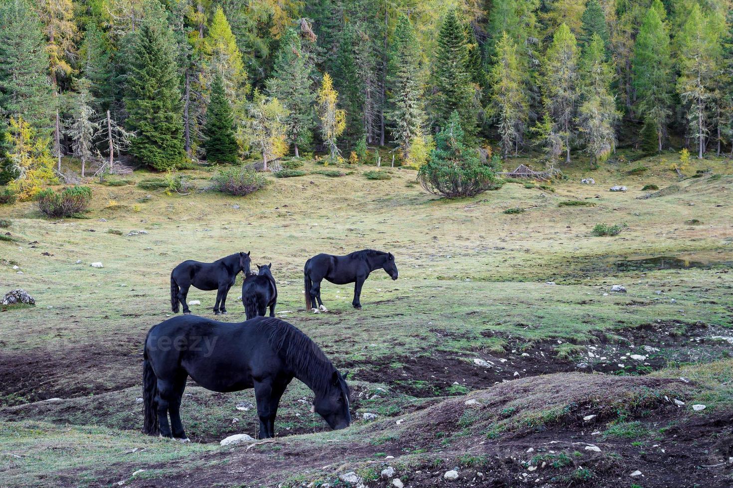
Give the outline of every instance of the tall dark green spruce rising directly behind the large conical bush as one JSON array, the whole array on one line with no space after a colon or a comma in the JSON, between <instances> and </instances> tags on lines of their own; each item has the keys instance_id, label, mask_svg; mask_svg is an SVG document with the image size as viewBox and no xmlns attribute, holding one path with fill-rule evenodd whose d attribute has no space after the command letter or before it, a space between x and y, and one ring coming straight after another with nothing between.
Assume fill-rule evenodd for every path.
<instances>
[{"instance_id":1,"label":"tall dark green spruce rising directly behind the large conical bush","mask_svg":"<svg viewBox=\"0 0 733 488\"><path fill-rule=\"evenodd\" d=\"M460 117L460 125L471 140L476 135L477 110L474 102L474 86L469 72L468 43L465 28L456 10L451 10L443 20L438 35L438 51L433 72L435 94L431 111L438 127L446 127L453 112Z\"/></svg>"}]
</instances>

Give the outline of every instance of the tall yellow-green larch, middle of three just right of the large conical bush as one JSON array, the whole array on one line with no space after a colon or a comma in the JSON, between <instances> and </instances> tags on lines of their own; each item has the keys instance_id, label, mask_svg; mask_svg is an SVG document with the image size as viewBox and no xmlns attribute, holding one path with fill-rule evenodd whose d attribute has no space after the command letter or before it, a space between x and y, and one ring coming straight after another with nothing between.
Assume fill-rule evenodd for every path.
<instances>
[{"instance_id":1,"label":"tall yellow-green larch, middle of three just right of the large conical bush","mask_svg":"<svg viewBox=\"0 0 733 488\"><path fill-rule=\"evenodd\" d=\"M555 121L555 132L565 140L565 161L570 162L570 140L575 132L573 121L579 96L578 53L575 36L564 23L553 35L543 73L545 107Z\"/></svg>"}]
</instances>

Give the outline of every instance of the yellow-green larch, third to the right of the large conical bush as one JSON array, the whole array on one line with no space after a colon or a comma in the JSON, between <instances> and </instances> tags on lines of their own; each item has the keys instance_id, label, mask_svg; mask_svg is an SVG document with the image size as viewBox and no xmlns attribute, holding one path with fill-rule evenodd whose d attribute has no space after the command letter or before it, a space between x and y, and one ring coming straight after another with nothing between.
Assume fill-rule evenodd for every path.
<instances>
[{"instance_id":1,"label":"yellow-green larch, third to the right of the large conical bush","mask_svg":"<svg viewBox=\"0 0 733 488\"><path fill-rule=\"evenodd\" d=\"M616 150L616 123L621 116L611 94L613 67L606 57L603 39L593 34L581 60L583 102L578 110L578 130L596 165Z\"/></svg>"}]
</instances>

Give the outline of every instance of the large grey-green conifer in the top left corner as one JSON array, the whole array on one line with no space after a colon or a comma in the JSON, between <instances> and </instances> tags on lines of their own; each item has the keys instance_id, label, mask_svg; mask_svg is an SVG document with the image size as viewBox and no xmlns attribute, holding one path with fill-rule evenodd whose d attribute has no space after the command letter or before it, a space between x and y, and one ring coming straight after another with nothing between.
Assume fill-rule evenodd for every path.
<instances>
[{"instance_id":1,"label":"large grey-green conifer in the top left corner","mask_svg":"<svg viewBox=\"0 0 733 488\"><path fill-rule=\"evenodd\" d=\"M26 0L0 2L0 113L51 128L53 97L40 21Z\"/></svg>"}]
</instances>

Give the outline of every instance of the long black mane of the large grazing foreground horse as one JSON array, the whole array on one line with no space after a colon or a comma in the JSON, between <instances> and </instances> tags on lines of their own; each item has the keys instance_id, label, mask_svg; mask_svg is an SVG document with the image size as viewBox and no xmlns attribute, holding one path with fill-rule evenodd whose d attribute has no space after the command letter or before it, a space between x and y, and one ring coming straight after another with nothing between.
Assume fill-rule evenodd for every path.
<instances>
[{"instance_id":1,"label":"long black mane of the large grazing foreground horse","mask_svg":"<svg viewBox=\"0 0 733 488\"><path fill-rule=\"evenodd\" d=\"M257 329L268 334L268 344L313 391L327 390L336 367L306 334L279 318L262 318Z\"/></svg>"}]
</instances>

